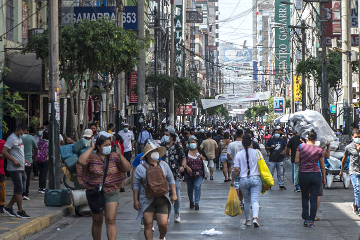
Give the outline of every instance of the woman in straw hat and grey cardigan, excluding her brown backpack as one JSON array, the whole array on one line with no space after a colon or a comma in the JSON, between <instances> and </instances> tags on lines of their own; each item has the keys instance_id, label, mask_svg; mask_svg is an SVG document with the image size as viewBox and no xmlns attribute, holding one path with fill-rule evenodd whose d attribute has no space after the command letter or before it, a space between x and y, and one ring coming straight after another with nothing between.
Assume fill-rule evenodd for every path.
<instances>
[{"instance_id":1,"label":"woman in straw hat and grey cardigan, excluding her brown backpack","mask_svg":"<svg viewBox=\"0 0 360 240\"><path fill-rule=\"evenodd\" d=\"M140 164L135 170L134 176L134 208L138 210L138 217L136 220L139 222L144 219L144 235L146 240L153 239L153 221L156 217L157 225L159 228L160 239L165 239L165 235L168 228L168 220L170 219L172 203L177 200L176 187L174 176L172 175L169 165L164 161L159 161L159 157L162 157L166 148L159 146L153 139L147 140L148 143L144 146L144 155L141 160L145 160L144 164ZM145 165L145 166L144 166ZM164 173L163 179L167 181L170 186L172 195L169 198L169 194L149 198L146 195L145 185L147 183L147 169L151 167L159 166Z\"/></svg>"}]
</instances>

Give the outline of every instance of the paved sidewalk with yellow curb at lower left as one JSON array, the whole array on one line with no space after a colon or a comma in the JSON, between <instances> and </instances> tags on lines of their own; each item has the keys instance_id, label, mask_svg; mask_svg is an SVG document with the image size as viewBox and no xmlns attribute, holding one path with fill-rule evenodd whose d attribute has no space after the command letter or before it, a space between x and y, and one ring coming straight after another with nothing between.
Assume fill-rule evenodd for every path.
<instances>
[{"instance_id":1,"label":"paved sidewalk with yellow curb at lower left","mask_svg":"<svg viewBox=\"0 0 360 240\"><path fill-rule=\"evenodd\" d=\"M125 185L131 182L131 178L126 178ZM48 184L46 184L48 186ZM60 188L64 188L64 184ZM0 213L0 239L1 240L18 240L31 236L46 227L53 225L61 217L67 216L74 212L71 205L62 207L46 207L44 204L44 194L38 193L39 180L33 179L33 173L30 178L29 198L23 200L23 209L31 217L22 219L9 217L6 213ZM126 188L127 191L131 190ZM10 177L6 177L6 203L10 201L13 195L13 183ZM18 211L16 203L13 206L14 212Z\"/></svg>"}]
</instances>

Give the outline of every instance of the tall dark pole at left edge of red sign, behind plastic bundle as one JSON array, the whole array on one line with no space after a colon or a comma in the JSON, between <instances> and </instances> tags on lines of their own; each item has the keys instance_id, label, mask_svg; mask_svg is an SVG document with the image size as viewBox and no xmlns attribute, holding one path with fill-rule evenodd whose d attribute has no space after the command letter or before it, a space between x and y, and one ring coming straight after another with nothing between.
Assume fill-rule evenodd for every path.
<instances>
[{"instance_id":1,"label":"tall dark pole at left edge of red sign, behind plastic bundle","mask_svg":"<svg viewBox=\"0 0 360 240\"><path fill-rule=\"evenodd\" d=\"M321 8L321 22L320 22L320 33L321 33L321 108L325 120L330 124L329 116L329 90L328 81L326 76L326 65L327 65L327 54L326 54L326 18L327 11L325 9L325 3L320 3Z\"/></svg>"}]
</instances>

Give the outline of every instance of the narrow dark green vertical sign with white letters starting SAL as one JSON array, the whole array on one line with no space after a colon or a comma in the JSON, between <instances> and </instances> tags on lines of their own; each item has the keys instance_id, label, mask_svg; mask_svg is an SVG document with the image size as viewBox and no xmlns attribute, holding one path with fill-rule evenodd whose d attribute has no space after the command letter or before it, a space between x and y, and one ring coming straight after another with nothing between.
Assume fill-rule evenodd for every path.
<instances>
[{"instance_id":1,"label":"narrow dark green vertical sign with white letters starting SAL","mask_svg":"<svg viewBox=\"0 0 360 240\"><path fill-rule=\"evenodd\" d=\"M182 47L181 39L183 37L183 1L182 0L175 0L175 7L176 7L176 18L175 18L175 71L176 75L179 77L178 74L183 72L183 55L181 52Z\"/></svg>"}]
</instances>

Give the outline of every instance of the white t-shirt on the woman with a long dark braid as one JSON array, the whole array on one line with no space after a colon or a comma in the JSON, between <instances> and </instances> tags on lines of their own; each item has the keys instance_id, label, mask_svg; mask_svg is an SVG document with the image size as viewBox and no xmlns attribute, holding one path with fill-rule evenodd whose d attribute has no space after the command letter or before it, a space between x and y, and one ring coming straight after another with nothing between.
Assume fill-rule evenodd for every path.
<instances>
[{"instance_id":1,"label":"white t-shirt on the woman with a long dark braid","mask_svg":"<svg viewBox=\"0 0 360 240\"><path fill-rule=\"evenodd\" d=\"M259 166L257 164L256 152L260 153L257 149L248 149L249 154L249 168L250 174L249 176L260 175ZM262 154L260 153L261 157ZM240 177L247 177L248 167L247 167L247 159L246 159L246 150L243 149L239 151L235 156L234 167L240 168Z\"/></svg>"}]
</instances>

